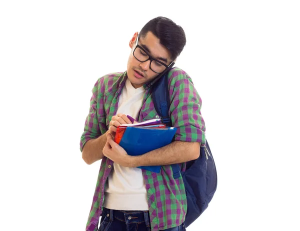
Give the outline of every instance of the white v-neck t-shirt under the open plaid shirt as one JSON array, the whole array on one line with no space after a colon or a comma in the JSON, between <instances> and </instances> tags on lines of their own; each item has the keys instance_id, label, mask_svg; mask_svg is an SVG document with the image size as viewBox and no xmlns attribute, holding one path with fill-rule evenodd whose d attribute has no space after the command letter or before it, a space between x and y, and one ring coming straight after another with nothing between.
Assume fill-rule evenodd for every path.
<instances>
[{"instance_id":1,"label":"white v-neck t-shirt under the open plaid shirt","mask_svg":"<svg viewBox=\"0 0 300 231\"><path fill-rule=\"evenodd\" d=\"M119 97L117 113L136 118L142 104L143 86L134 88L127 79ZM113 163L105 186L103 206L117 210L148 210L147 192L140 168Z\"/></svg>"}]
</instances>

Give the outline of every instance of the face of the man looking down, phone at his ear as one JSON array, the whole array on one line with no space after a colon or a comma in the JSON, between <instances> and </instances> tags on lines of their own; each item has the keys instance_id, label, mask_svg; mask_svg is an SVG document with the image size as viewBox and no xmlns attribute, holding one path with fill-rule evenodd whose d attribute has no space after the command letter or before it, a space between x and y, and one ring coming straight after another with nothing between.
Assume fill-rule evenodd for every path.
<instances>
[{"instance_id":1,"label":"face of the man looking down, phone at his ear","mask_svg":"<svg viewBox=\"0 0 300 231\"><path fill-rule=\"evenodd\" d=\"M142 86L144 83L154 79L158 75L158 73L150 68L150 60L141 62L133 56L137 35L138 33L136 32L129 42L131 53L127 63L127 76L132 86L135 88ZM138 45L146 50L152 57L164 64L169 65L172 62L170 52L159 43L159 39L152 32L147 32L145 37L138 36ZM151 66L153 64L154 63L152 63Z\"/></svg>"}]
</instances>

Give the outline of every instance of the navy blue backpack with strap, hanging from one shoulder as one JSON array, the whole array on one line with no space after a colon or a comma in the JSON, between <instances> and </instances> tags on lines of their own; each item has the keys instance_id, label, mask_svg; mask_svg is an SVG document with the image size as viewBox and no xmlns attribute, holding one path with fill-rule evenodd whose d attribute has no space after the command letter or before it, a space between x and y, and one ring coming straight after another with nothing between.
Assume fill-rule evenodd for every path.
<instances>
[{"instance_id":1,"label":"navy blue backpack with strap, hanging from one shoulder","mask_svg":"<svg viewBox=\"0 0 300 231\"><path fill-rule=\"evenodd\" d=\"M152 89L152 100L162 122L171 126L168 114L170 99L167 75L164 73L155 81ZM171 164L171 167L174 178L178 178L181 174L184 182L187 199L184 224L187 227L207 208L216 190L216 168L207 140L205 139L205 146L200 147L200 156L195 160L186 162L185 171L180 170L179 164Z\"/></svg>"}]
</instances>

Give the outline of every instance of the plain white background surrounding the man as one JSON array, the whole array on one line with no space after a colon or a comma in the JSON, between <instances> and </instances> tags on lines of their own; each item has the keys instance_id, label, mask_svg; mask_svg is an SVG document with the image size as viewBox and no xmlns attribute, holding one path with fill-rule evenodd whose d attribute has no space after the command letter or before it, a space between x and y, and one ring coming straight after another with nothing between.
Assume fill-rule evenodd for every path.
<instances>
[{"instance_id":1,"label":"plain white background surrounding the man","mask_svg":"<svg viewBox=\"0 0 300 231\"><path fill-rule=\"evenodd\" d=\"M298 1L0 3L0 230L84 230L100 162L79 138L98 77L135 31L181 25L218 187L187 230L299 230Z\"/></svg>"}]
</instances>

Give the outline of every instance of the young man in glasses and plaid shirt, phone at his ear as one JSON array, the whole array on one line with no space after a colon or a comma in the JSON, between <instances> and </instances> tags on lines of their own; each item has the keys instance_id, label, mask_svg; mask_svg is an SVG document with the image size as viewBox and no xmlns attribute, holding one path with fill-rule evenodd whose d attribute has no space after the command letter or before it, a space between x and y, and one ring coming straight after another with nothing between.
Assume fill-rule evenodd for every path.
<instances>
[{"instance_id":1,"label":"young man in glasses and plaid shirt, phone at his ear","mask_svg":"<svg viewBox=\"0 0 300 231\"><path fill-rule=\"evenodd\" d=\"M100 77L92 89L90 109L80 140L87 164L101 160L86 230L185 230L186 195L182 177L174 179L170 164L199 156L205 143L201 99L191 78L171 68L185 45L183 29L172 20L156 17L129 41L125 72ZM116 127L157 118L149 83L168 70L169 114L177 127L174 141L164 147L131 156L113 141ZM137 168L162 165L159 173ZM101 216L99 228L99 217Z\"/></svg>"}]
</instances>

